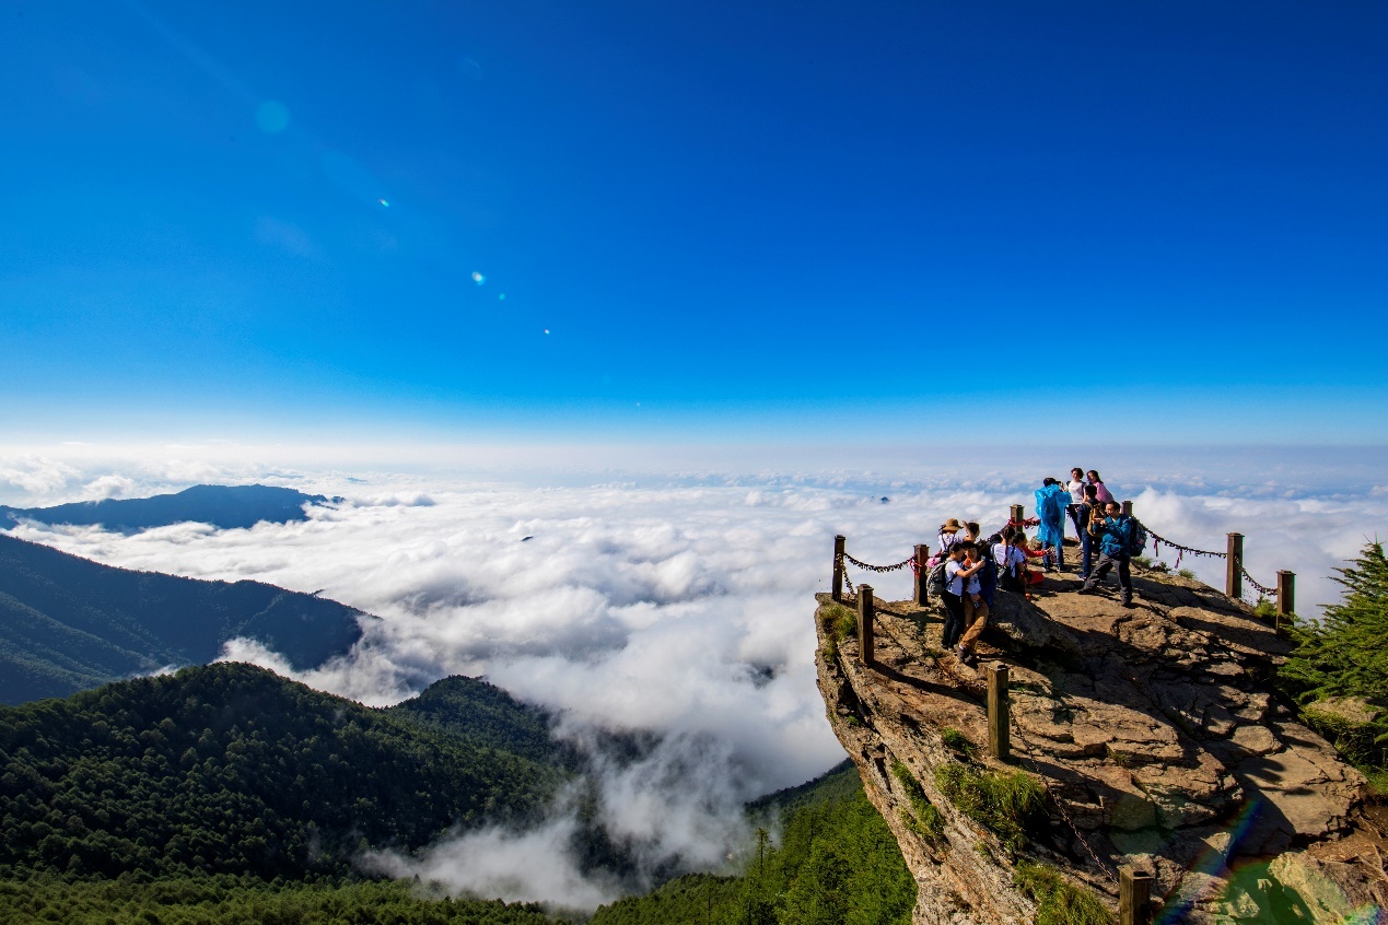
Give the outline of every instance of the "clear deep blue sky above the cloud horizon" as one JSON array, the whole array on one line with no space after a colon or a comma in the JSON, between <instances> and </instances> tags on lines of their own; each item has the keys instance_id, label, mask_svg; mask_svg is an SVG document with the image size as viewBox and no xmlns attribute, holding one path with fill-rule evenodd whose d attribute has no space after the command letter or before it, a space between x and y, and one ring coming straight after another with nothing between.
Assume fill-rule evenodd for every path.
<instances>
[{"instance_id":1,"label":"clear deep blue sky above the cloud horizon","mask_svg":"<svg viewBox=\"0 0 1388 925\"><path fill-rule=\"evenodd\" d=\"M11 0L0 426L1384 442L1385 49L1369 1Z\"/></svg>"}]
</instances>

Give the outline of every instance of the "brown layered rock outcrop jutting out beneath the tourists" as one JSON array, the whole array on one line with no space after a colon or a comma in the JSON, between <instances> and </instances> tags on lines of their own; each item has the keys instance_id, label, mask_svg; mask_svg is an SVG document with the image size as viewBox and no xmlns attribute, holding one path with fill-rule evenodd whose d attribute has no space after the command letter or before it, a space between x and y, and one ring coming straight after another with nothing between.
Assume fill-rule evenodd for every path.
<instances>
[{"instance_id":1,"label":"brown layered rock outcrop jutting out beneath the tourists","mask_svg":"<svg viewBox=\"0 0 1388 925\"><path fill-rule=\"evenodd\" d=\"M1165 906L1171 922L1341 922L1388 907L1384 820L1371 818L1382 807L1366 807L1363 777L1270 693L1288 642L1195 581L1148 573L1135 587L1134 609L1063 577L1033 600L999 591L979 671L940 652L938 612L911 602L877 603L865 667L854 635L834 631L838 605L819 596L820 692L916 876L915 921L1034 921L1013 885L1023 861L1110 908L1117 868L1145 871L1152 911ZM985 757L990 662L1009 666L1010 764ZM984 756L969 759L977 770L1020 768L1044 785L1020 849L941 792L936 771L960 761L947 729ZM938 835L912 824L920 795Z\"/></svg>"}]
</instances>

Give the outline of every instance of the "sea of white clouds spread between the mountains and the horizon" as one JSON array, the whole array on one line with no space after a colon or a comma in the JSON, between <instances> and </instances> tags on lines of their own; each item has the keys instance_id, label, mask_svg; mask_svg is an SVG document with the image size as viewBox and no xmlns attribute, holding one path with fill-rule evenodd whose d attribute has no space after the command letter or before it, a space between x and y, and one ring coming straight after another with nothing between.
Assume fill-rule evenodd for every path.
<instances>
[{"instance_id":1,"label":"sea of white clouds spread between the mountains and the horizon","mask_svg":"<svg viewBox=\"0 0 1388 925\"><path fill-rule=\"evenodd\" d=\"M1226 533L1244 533L1253 576L1271 584L1278 569L1295 570L1299 610L1313 614L1338 596L1332 569L1388 533L1388 474L1377 459L1187 453L1134 458L1109 476L1158 534L1223 549ZM997 528L1009 503L1030 509L1040 484L1033 463L960 478L894 463L890 453L870 469L816 472L794 462L751 476L709 467L584 476L555 465L552 478L541 463L520 483L497 472L117 465L31 453L0 459L0 487L11 490L0 499L140 496L194 481L344 496L311 508L307 521L250 530L179 524L119 535L26 523L11 534L115 566L321 591L376 614L347 657L314 671L294 673L248 641L229 645L226 657L368 704L400 702L450 674L486 675L552 710L558 734L590 749L602 822L643 871L716 870L745 843L745 800L844 757L813 668L813 592L827 589L833 537L847 535L862 560L897 563L913 544L933 542L947 517ZM1223 584L1223 560L1188 557L1181 567ZM879 596L911 594L905 570L849 574L867 578ZM598 731L643 734L655 745L618 760L601 752ZM375 864L483 896L570 907L641 886L640 878L579 870L570 804L561 800L530 831L471 832L419 857L380 854Z\"/></svg>"}]
</instances>

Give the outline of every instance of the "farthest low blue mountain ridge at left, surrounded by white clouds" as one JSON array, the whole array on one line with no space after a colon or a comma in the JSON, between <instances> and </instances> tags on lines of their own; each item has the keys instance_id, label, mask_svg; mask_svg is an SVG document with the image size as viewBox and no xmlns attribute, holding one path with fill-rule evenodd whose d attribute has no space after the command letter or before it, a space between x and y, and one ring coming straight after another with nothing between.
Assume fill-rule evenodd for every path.
<instances>
[{"instance_id":1,"label":"farthest low blue mountain ridge at left, surrounded by white clouds","mask_svg":"<svg viewBox=\"0 0 1388 925\"><path fill-rule=\"evenodd\" d=\"M105 501L78 501L51 508L0 505L0 528L19 520L137 533L176 523L207 523L222 530L248 528L264 521L307 520L304 505L341 503L341 498L305 495L276 485L193 485L172 495Z\"/></svg>"}]
</instances>

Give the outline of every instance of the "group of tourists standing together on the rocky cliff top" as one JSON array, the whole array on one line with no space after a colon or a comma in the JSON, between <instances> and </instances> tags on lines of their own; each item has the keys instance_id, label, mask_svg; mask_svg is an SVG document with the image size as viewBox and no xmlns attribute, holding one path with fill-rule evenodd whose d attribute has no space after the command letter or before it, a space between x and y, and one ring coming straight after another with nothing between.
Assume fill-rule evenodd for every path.
<instances>
[{"instance_id":1,"label":"group of tourists standing together on the rocky cliff top","mask_svg":"<svg viewBox=\"0 0 1388 925\"><path fill-rule=\"evenodd\" d=\"M945 607L944 648L966 664L976 663L974 648L988 625L998 588L1026 594L1042 576L1027 567L1041 559L1045 571L1063 566L1065 519L1070 517L1080 539L1080 594L1092 594L1112 569L1117 569L1123 606L1133 606L1133 576L1128 560L1138 538L1137 521L1123 513L1123 505L1103 484L1099 473L1070 470L1070 481L1047 478L1035 492L1040 549L1027 539L1023 524L1009 523L987 539L976 521L951 517L940 526L938 552L930 560L933 592ZM1145 539L1145 535L1144 535ZM1098 549L1098 562L1091 559Z\"/></svg>"}]
</instances>

